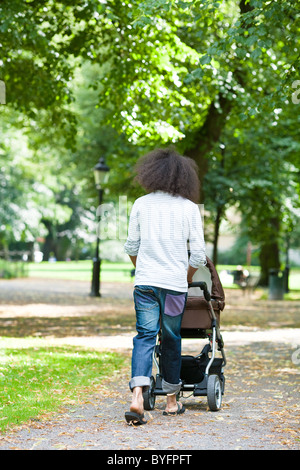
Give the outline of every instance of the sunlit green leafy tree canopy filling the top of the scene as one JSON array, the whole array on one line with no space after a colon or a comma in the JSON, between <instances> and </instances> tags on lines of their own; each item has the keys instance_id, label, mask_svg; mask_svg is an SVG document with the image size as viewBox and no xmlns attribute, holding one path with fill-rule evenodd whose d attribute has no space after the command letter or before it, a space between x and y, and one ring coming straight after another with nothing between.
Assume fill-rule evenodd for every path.
<instances>
[{"instance_id":1,"label":"sunlit green leafy tree canopy filling the top of the scene","mask_svg":"<svg viewBox=\"0 0 300 470\"><path fill-rule=\"evenodd\" d=\"M280 266L299 207L299 2L4 0L0 14L2 119L37 167L48 151L89 198L102 152L113 197L141 152L172 143L198 163L215 243L235 206L264 277Z\"/></svg>"}]
</instances>

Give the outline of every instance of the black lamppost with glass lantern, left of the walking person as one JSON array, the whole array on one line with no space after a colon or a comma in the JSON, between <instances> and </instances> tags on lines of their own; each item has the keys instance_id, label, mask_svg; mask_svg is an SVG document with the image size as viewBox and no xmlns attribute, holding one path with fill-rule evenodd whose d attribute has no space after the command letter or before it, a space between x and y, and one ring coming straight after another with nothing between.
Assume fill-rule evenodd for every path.
<instances>
[{"instance_id":1,"label":"black lamppost with glass lantern, left of the walking person","mask_svg":"<svg viewBox=\"0 0 300 470\"><path fill-rule=\"evenodd\" d=\"M108 172L110 168L105 164L104 158L101 157L99 162L94 168L95 184L99 193L99 206L102 204L103 198L103 188L102 185L108 181ZM101 214L101 211L99 212ZM99 225L101 221L101 215L99 216ZM96 245L96 255L93 259L93 277L92 277L92 297L101 297L100 294L100 271L101 271L101 258L100 258L100 227L97 230L97 245Z\"/></svg>"}]
</instances>

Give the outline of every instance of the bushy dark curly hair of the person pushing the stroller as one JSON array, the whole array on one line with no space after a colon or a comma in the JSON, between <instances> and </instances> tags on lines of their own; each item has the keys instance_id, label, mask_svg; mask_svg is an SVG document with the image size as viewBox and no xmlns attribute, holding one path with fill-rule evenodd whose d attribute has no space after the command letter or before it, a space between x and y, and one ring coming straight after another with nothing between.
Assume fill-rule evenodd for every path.
<instances>
[{"instance_id":1,"label":"bushy dark curly hair of the person pushing the stroller","mask_svg":"<svg viewBox=\"0 0 300 470\"><path fill-rule=\"evenodd\" d=\"M147 191L164 191L197 203L200 181L194 160L172 148L156 149L139 159L135 180Z\"/></svg>"}]
</instances>

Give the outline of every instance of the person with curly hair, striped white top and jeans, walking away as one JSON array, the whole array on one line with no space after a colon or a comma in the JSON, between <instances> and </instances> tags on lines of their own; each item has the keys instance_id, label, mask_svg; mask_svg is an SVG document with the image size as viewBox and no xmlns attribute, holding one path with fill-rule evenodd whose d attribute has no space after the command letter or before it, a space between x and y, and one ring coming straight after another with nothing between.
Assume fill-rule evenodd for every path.
<instances>
[{"instance_id":1,"label":"person with curly hair, striped white top and jeans, walking away","mask_svg":"<svg viewBox=\"0 0 300 470\"><path fill-rule=\"evenodd\" d=\"M153 350L162 331L164 415L183 413L180 391L181 320L188 283L206 264L205 242L197 202L200 182L194 160L175 150L156 149L142 157L135 180L145 189L132 207L124 245L135 271L137 335L133 339L129 424L145 424L143 391L150 386ZM188 257L189 242L190 257Z\"/></svg>"}]
</instances>

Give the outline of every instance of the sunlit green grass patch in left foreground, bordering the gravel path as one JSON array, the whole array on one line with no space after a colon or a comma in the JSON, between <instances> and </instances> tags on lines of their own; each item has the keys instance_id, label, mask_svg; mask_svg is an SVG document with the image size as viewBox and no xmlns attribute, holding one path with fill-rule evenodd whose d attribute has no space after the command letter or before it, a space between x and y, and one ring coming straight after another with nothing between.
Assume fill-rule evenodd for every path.
<instances>
[{"instance_id":1,"label":"sunlit green grass patch in left foreground, bordering the gravel path","mask_svg":"<svg viewBox=\"0 0 300 470\"><path fill-rule=\"evenodd\" d=\"M78 347L49 346L41 338L0 338L0 432L99 389L126 359Z\"/></svg>"}]
</instances>

